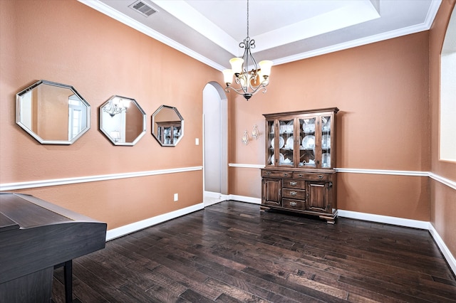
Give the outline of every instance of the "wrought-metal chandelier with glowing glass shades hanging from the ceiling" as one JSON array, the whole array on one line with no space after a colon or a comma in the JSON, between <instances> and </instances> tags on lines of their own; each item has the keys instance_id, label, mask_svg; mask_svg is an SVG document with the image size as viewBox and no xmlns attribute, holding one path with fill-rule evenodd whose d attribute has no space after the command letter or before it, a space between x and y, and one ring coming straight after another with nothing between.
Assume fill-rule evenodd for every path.
<instances>
[{"instance_id":1,"label":"wrought-metal chandelier with glowing glass shades hanging from the ceiling","mask_svg":"<svg viewBox=\"0 0 456 303\"><path fill-rule=\"evenodd\" d=\"M229 60L231 69L223 70L224 82L227 84L225 91L234 90L239 95L243 95L248 101L254 94L262 88L266 92L266 86L269 84L269 75L271 74L272 61L263 60L257 64L252 55L252 48L255 48L255 41L249 37L249 0L247 0L247 37L244 42L239 43L240 48L244 48L242 58L232 58ZM252 70L249 71L249 66ZM232 80L239 87L232 87Z\"/></svg>"}]
</instances>

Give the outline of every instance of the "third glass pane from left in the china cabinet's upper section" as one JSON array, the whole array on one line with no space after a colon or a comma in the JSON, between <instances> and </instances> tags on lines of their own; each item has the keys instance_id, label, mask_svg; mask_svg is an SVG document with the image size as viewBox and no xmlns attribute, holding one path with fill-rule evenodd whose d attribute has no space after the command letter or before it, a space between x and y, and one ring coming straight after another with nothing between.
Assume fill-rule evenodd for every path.
<instances>
[{"instance_id":1,"label":"third glass pane from left in the china cabinet's upper section","mask_svg":"<svg viewBox=\"0 0 456 303\"><path fill-rule=\"evenodd\" d=\"M316 167L316 117L299 118L299 133L302 139L299 145L299 166Z\"/></svg>"}]
</instances>

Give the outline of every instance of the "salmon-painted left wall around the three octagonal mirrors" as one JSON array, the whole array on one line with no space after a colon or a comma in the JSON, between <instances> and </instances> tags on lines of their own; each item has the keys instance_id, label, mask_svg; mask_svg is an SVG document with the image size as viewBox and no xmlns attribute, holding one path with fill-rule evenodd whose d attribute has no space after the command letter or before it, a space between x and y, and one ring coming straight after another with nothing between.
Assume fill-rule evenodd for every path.
<instances>
[{"instance_id":1,"label":"salmon-painted left wall around the three octagonal mirrors","mask_svg":"<svg viewBox=\"0 0 456 303\"><path fill-rule=\"evenodd\" d=\"M202 90L217 70L78 1L0 1L0 183L202 166ZM176 75L191 74L185 81ZM41 145L16 125L16 93L37 80L73 85L91 106L91 127L70 146ZM98 130L100 105L135 99L147 131L116 147ZM177 107L185 135L160 147L150 116ZM108 223L108 229L202 202L202 170L19 190ZM173 193L179 201L173 202Z\"/></svg>"}]
</instances>

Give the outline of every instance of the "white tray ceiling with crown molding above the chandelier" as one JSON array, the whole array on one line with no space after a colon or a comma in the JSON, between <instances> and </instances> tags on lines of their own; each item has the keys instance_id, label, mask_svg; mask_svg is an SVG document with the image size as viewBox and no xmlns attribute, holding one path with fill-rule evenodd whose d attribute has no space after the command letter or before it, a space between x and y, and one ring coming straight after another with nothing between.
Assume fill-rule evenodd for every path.
<instances>
[{"instance_id":1,"label":"white tray ceiling with crown molding above the chandelier","mask_svg":"<svg viewBox=\"0 0 456 303\"><path fill-rule=\"evenodd\" d=\"M207 65L223 70L242 55L246 0L79 0ZM426 31L441 0L250 0L249 36L257 61L274 65Z\"/></svg>"}]
</instances>

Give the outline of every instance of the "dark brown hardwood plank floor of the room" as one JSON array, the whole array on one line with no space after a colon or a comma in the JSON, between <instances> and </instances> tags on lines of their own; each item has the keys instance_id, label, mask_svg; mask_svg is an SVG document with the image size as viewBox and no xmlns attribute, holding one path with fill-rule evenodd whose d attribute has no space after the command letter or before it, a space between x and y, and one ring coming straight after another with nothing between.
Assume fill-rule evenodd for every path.
<instances>
[{"instance_id":1,"label":"dark brown hardwood plank floor of the room","mask_svg":"<svg viewBox=\"0 0 456 303\"><path fill-rule=\"evenodd\" d=\"M64 302L63 269L53 302ZM225 201L73 260L74 302L456 302L427 230Z\"/></svg>"}]
</instances>

